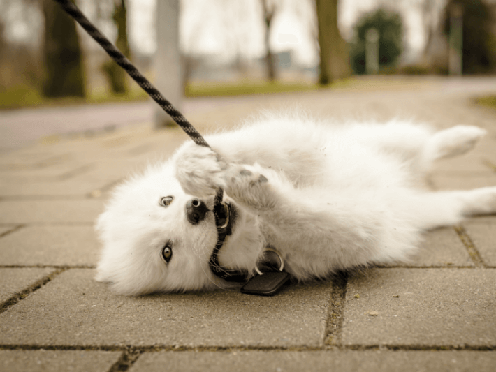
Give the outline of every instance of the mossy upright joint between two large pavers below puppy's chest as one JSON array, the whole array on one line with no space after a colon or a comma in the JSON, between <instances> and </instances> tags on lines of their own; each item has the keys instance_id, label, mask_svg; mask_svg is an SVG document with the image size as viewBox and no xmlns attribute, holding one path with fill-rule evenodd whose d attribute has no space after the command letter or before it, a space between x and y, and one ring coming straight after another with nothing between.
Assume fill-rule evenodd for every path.
<instances>
[{"instance_id":1,"label":"mossy upright joint between two large pavers below puppy's chest","mask_svg":"<svg viewBox=\"0 0 496 372\"><path fill-rule=\"evenodd\" d=\"M339 273L333 278L326 319L326 334L324 335L325 345L338 345L340 343L347 284L348 273Z\"/></svg>"}]
</instances>

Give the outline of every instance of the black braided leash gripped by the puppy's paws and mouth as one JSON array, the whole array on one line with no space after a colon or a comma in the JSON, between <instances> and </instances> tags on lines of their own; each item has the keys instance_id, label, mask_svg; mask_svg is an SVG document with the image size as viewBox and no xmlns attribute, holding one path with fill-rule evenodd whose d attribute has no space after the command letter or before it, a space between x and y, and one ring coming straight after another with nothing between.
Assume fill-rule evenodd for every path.
<instances>
[{"instance_id":1,"label":"black braided leash gripped by the puppy's paws and mouth","mask_svg":"<svg viewBox=\"0 0 496 372\"><path fill-rule=\"evenodd\" d=\"M145 76L143 76L138 69L131 64L131 61L122 54L117 47L115 47L108 38L105 38L105 36L97 29L94 27L92 22L89 22L87 17L81 13L81 11L78 9L75 4L70 1L70 0L54 0L59 3L62 9L65 10L68 15L71 15L71 17L74 18L76 22L78 22L83 29L87 31L89 36L92 36L94 40L96 40L96 43L99 43L101 47L103 47L103 50L107 52L107 54L124 70L126 73L128 73L129 76L133 78L135 82L138 83L140 87L143 88L144 91L147 92L147 94L153 98L153 100L159 104L162 109L169 114L169 116L177 123L178 126L182 128L182 130L191 137L191 140L193 140L196 144L199 144L200 146L205 146L205 147L210 147L209 144L207 144L207 141L205 141L205 138L196 131L194 126L191 125L191 123L179 112L173 105L170 103L162 94L154 87L154 85L147 80ZM210 269L212 269L212 272L218 276L219 278L222 278L226 281L246 281L247 280L247 275L242 274L239 271L235 270L229 270L229 269L222 269L222 267L219 265L219 249L221 248L222 244L224 244L224 239L226 239L227 235L227 228L221 229L219 228L220 223L219 221L222 219L221 216L225 214L224 207L221 204L222 203L222 198L224 197L224 191L222 191L221 188L217 190L217 194L215 195L215 200L214 200L214 216L215 216L215 224L218 227L218 232L219 232L219 237L217 238L217 244L214 248L214 251L212 252L212 255L210 256Z\"/></svg>"}]
</instances>

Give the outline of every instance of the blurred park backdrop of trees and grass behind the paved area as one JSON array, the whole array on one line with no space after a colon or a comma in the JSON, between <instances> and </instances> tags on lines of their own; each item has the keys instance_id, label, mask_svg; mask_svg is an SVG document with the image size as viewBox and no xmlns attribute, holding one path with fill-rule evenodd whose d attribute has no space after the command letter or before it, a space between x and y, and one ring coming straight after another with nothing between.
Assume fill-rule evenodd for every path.
<instances>
[{"instance_id":1,"label":"blurred park backdrop of trees and grass behind the paved area","mask_svg":"<svg viewBox=\"0 0 496 372\"><path fill-rule=\"evenodd\" d=\"M158 85L178 105L170 89L230 96L496 73L496 0L75 3L152 81L177 77ZM0 0L0 110L146 99L57 3Z\"/></svg>"}]
</instances>

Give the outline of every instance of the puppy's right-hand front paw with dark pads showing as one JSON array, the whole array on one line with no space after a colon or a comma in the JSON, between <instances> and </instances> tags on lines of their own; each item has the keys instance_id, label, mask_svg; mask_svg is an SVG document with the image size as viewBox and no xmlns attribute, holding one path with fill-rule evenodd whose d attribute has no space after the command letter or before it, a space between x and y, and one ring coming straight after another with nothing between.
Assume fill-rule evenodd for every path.
<instances>
[{"instance_id":1,"label":"puppy's right-hand front paw with dark pads showing","mask_svg":"<svg viewBox=\"0 0 496 372\"><path fill-rule=\"evenodd\" d=\"M258 165L231 165L226 171L226 192L231 198L256 209L270 209L276 198L270 182Z\"/></svg>"}]
</instances>

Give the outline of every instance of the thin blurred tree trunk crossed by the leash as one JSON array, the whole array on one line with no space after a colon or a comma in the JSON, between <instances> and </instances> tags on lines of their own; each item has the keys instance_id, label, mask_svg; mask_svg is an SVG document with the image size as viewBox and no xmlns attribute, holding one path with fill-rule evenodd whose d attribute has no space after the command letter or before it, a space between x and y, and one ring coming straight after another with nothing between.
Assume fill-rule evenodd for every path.
<instances>
[{"instance_id":1,"label":"thin blurred tree trunk crossed by the leash","mask_svg":"<svg viewBox=\"0 0 496 372\"><path fill-rule=\"evenodd\" d=\"M115 46L127 58L131 55L129 40L127 38L127 9L125 0L115 0L114 14L112 20L117 27L117 40ZM123 94L127 91L127 80L125 71L114 61L103 64L103 71L108 77L110 88L114 93Z\"/></svg>"}]
</instances>

